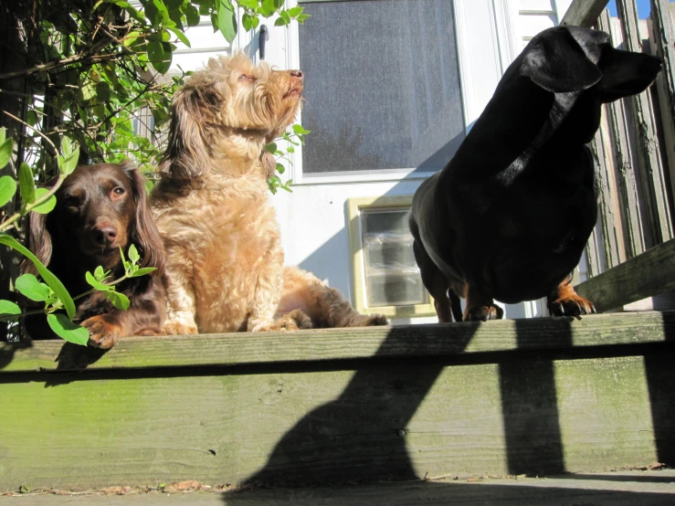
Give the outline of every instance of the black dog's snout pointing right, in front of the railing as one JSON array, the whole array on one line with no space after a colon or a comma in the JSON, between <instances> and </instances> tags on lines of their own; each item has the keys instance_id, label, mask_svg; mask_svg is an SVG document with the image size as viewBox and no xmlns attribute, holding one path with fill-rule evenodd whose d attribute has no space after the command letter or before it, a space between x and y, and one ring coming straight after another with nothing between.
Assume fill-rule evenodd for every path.
<instances>
[{"instance_id":1,"label":"black dog's snout pointing right, in front of the railing","mask_svg":"<svg viewBox=\"0 0 675 506\"><path fill-rule=\"evenodd\" d=\"M600 100L611 102L647 90L659 74L661 60L643 53L612 48L603 55L600 68Z\"/></svg>"}]
</instances>

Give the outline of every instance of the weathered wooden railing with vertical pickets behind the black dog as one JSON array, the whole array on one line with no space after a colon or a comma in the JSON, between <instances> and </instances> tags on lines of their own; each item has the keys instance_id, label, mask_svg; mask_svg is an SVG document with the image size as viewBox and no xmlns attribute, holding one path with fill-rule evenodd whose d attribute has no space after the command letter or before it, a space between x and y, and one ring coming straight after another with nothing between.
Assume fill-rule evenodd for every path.
<instances>
[{"instance_id":1,"label":"weathered wooden railing with vertical pickets behind the black dog","mask_svg":"<svg viewBox=\"0 0 675 506\"><path fill-rule=\"evenodd\" d=\"M675 290L675 26L667 0L651 0L646 23L635 0L617 0L618 17L606 5L575 0L561 24L603 30L615 47L658 56L663 70L650 90L604 106L592 144L600 217L577 291L598 311Z\"/></svg>"}]
</instances>

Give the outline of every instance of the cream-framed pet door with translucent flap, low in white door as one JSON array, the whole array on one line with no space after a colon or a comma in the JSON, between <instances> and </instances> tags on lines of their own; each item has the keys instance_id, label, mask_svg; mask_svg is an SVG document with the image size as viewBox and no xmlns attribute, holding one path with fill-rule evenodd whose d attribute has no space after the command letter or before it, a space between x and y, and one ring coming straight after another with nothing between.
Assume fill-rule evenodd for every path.
<instances>
[{"instance_id":1,"label":"cream-framed pet door with translucent flap, low in white door","mask_svg":"<svg viewBox=\"0 0 675 506\"><path fill-rule=\"evenodd\" d=\"M433 315L407 225L411 195L348 201L354 306L387 316Z\"/></svg>"}]
</instances>

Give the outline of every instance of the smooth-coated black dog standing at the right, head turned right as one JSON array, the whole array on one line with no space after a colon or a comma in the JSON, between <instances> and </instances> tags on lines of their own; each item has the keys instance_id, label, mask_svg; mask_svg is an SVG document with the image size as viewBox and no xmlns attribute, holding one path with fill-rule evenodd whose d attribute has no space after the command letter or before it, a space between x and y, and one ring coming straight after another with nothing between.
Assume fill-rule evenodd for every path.
<instances>
[{"instance_id":1,"label":"smooth-coated black dog standing at the right, head turned right","mask_svg":"<svg viewBox=\"0 0 675 506\"><path fill-rule=\"evenodd\" d=\"M595 312L570 286L596 224L595 161L585 146L601 105L645 90L658 58L620 51L604 32L558 26L506 70L448 165L413 199L410 230L439 322L501 318L548 298L552 314Z\"/></svg>"}]
</instances>

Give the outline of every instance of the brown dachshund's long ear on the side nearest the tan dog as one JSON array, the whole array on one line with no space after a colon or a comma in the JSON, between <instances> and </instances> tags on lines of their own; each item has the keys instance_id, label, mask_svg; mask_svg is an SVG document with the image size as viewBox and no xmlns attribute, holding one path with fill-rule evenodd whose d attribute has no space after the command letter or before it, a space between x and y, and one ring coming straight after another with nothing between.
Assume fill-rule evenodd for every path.
<instances>
[{"instance_id":1,"label":"brown dachshund's long ear on the side nearest the tan dog","mask_svg":"<svg viewBox=\"0 0 675 506\"><path fill-rule=\"evenodd\" d=\"M145 178L131 163L122 164L122 168L132 184L133 201L136 203L132 242L141 249L139 251L142 256L141 267L154 267L162 274L164 270L164 247L148 205Z\"/></svg>"}]
</instances>

